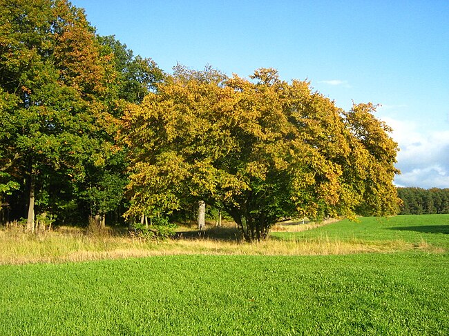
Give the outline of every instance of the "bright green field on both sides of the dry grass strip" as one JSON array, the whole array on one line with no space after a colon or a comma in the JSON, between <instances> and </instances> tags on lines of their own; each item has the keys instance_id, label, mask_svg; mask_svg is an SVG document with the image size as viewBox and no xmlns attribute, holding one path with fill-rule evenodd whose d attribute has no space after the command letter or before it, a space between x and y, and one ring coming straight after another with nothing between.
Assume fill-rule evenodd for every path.
<instances>
[{"instance_id":1,"label":"bright green field on both sides of the dry grass strip","mask_svg":"<svg viewBox=\"0 0 449 336\"><path fill-rule=\"evenodd\" d=\"M273 234L425 241L439 253L3 265L0 335L449 335L448 219L365 218Z\"/></svg>"}]
</instances>

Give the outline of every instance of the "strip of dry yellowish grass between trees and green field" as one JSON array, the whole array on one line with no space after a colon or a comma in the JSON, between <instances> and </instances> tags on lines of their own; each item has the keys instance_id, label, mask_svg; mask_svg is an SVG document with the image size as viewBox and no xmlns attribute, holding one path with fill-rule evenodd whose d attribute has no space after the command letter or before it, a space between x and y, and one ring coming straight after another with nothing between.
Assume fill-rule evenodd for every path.
<instances>
[{"instance_id":1,"label":"strip of dry yellowish grass between trees and green field","mask_svg":"<svg viewBox=\"0 0 449 336\"><path fill-rule=\"evenodd\" d=\"M303 224L301 227L314 228L316 224ZM294 225L289 225L289 228L299 230ZM213 230L216 229L211 232ZM269 239L257 244L244 244L236 239L191 235L155 242L131 238L111 230L97 235L68 227L37 235L23 233L19 229L0 230L0 264L59 263L155 255L343 255L417 249L442 252L426 241L410 244L405 241L336 241L321 237L289 241Z\"/></svg>"}]
</instances>

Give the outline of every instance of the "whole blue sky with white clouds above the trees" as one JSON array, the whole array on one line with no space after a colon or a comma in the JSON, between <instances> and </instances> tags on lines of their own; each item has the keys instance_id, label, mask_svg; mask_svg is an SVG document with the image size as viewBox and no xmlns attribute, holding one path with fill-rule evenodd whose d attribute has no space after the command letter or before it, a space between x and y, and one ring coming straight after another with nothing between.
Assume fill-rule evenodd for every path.
<instances>
[{"instance_id":1,"label":"whole blue sky with white clouds above the trees","mask_svg":"<svg viewBox=\"0 0 449 336\"><path fill-rule=\"evenodd\" d=\"M372 101L399 142L399 186L449 188L449 0L73 0L101 35L170 72L276 68L336 105Z\"/></svg>"}]
</instances>

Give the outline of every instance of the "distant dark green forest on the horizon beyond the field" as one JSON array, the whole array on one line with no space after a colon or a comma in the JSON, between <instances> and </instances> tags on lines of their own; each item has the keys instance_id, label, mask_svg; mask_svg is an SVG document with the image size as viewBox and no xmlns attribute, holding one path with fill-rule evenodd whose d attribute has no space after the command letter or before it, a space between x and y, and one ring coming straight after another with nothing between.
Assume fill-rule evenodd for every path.
<instances>
[{"instance_id":1,"label":"distant dark green forest on the horizon beyond the field","mask_svg":"<svg viewBox=\"0 0 449 336\"><path fill-rule=\"evenodd\" d=\"M398 188L403 205L399 215L449 213L449 189Z\"/></svg>"}]
</instances>

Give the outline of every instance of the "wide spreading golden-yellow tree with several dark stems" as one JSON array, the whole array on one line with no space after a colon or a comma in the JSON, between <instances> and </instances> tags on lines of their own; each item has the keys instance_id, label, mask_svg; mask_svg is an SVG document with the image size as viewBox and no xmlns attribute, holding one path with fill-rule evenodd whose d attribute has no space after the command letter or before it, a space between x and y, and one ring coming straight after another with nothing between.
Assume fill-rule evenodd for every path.
<instances>
[{"instance_id":1,"label":"wide spreading golden-yellow tree with several dark stems","mask_svg":"<svg viewBox=\"0 0 449 336\"><path fill-rule=\"evenodd\" d=\"M372 112L345 112L273 69L248 80L178 66L124 115L126 215L204 200L227 211L243 239L260 241L280 217L392 214L398 149Z\"/></svg>"}]
</instances>

